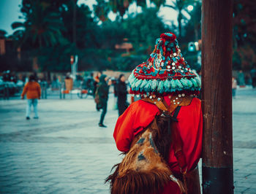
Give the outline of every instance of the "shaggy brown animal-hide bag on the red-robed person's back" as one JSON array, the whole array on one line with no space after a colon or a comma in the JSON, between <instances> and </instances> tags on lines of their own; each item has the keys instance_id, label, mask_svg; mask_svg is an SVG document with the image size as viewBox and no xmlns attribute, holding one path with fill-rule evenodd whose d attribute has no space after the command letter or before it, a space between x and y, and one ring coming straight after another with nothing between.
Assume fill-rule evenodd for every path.
<instances>
[{"instance_id":1,"label":"shaggy brown animal-hide bag on the red-robed person's back","mask_svg":"<svg viewBox=\"0 0 256 194\"><path fill-rule=\"evenodd\" d=\"M157 117L135 137L121 163L113 166L115 171L105 179L105 182L110 182L110 193L159 193L170 181L176 182L181 192L185 192L182 182L172 179L173 173L167 166L170 141L167 120Z\"/></svg>"}]
</instances>

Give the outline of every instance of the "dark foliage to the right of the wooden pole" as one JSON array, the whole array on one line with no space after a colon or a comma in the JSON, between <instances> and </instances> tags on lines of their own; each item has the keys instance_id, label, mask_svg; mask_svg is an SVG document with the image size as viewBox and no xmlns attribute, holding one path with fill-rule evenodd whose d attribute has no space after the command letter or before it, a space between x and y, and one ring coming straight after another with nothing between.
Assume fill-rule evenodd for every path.
<instances>
[{"instance_id":1,"label":"dark foliage to the right of the wooden pole","mask_svg":"<svg viewBox=\"0 0 256 194\"><path fill-rule=\"evenodd\" d=\"M252 69L256 63L255 1L234 0L233 4L233 69Z\"/></svg>"}]
</instances>

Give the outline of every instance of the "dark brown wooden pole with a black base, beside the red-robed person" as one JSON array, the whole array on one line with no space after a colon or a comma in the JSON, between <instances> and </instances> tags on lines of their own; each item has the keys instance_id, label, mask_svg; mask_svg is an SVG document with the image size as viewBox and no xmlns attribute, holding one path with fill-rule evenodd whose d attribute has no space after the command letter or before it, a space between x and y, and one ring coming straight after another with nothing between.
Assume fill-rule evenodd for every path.
<instances>
[{"instance_id":1,"label":"dark brown wooden pole with a black base, beside the red-robed person","mask_svg":"<svg viewBox=\"0 0 256 194\"><path fill-rule=\"evenodd\" d=\"M203 0L203 193L233 193L233 0Z\"/></svg>"}]
</instances>

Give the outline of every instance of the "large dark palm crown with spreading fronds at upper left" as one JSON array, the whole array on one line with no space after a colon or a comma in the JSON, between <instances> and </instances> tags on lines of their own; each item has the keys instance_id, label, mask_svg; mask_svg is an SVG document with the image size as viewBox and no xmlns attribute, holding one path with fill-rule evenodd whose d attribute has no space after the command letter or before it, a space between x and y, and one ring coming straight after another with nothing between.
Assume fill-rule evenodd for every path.
<instances>
[{"instance_id":1,"label":"large dark palm crown with spreading fronds at upper left","mask_svg":"<svg viewBox=\"0 0 256 194\"><path fill-rule=\"evenodd\" d=\"M25 22L12 23L12 28L16 29L12 34L13 38L20 44L31 44L36 49L64 42L61 34L64 26L59 13L48 12L50 4L43 1L30 1L30 5L29 8L22 8Z\"/></svg>"}]
</instances>

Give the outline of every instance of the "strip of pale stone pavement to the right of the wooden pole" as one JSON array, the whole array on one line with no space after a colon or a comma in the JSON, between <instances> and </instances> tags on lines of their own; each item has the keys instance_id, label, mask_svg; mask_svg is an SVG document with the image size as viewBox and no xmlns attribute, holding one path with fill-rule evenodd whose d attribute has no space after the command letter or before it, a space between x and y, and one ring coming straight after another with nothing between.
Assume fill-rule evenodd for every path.
<instances>
[{"instance_id":1,"label":"strip of pale stone pavement to the right of the wooden pole","mask_svg":"<svg viewBox=\"0 0 256 194\"><path fill-rule=\"evenodd\" d=\"M238 89L233 99L235 193L256 193L256 90Z\"/></svg>"}]
</instances>

